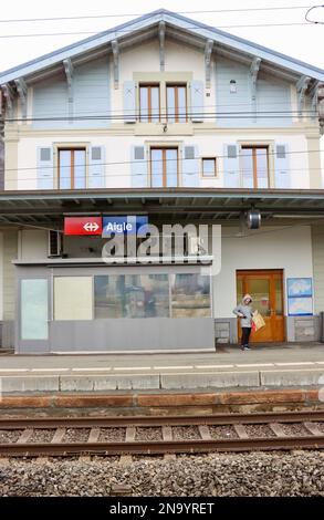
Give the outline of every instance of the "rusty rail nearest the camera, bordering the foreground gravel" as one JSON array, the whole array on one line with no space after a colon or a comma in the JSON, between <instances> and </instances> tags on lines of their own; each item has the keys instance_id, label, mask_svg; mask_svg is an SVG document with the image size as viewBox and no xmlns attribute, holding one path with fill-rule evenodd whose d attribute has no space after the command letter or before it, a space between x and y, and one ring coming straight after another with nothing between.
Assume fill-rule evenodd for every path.
<instances>
[{"instance_id":1,"label":"rusty rail nearest the camera, bordering the foreground gravel","mask_svg":"<svg viewBox=\"0 0 324 520\"><path fill-rule=\"evenodd\" d=\"M323 449L324 436L167 441L139 440L125 443L3 444L0 445L0 455L4 457L70 457L73 455L159 455L208 451L291 450L300 448Z\"/></svg>"}]
</instances>

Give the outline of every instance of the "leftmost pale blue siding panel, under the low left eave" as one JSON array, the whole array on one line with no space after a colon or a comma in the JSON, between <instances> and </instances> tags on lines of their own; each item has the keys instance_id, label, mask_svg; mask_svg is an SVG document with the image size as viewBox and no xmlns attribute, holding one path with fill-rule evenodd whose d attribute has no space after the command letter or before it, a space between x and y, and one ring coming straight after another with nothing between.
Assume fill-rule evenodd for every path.
<instances>
[{"instance_id":1,"label":"leftmost pale blue siding panel, under the low left eave","mask_svg":"<svg viewBox=\"0 0 324 520\"><path fill-rule=\"evenodd\" d=\"M33 127L66 128L67 85L64 79L49 80L33 89ZM58 119L61 118L61 119ZM44 121L42 121L44 119Z\"/></svg>"}]
</instances>

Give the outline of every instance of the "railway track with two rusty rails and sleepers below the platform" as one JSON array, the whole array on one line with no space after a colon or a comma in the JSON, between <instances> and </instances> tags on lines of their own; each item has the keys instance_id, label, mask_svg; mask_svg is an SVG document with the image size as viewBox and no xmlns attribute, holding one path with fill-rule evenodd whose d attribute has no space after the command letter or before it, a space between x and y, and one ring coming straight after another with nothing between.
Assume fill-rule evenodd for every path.
<instances>
[{"instance_id":1,"label":"railway track with two rusty rails and sleepers below the platform","mask_svg":"<svg viewBox=\"0 0 324 520\"><path fill-rule=\"evenodd\" d=\"M0 419L1 457L167 455L324 448L324 410Z\"/></svg>"}]
</instances>

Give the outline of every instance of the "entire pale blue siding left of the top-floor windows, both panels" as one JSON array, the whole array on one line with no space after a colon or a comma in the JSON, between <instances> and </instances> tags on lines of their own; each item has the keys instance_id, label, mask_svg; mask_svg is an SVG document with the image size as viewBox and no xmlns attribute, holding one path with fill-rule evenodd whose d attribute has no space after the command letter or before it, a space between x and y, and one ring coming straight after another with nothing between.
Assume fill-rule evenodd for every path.
<instances>
[{"instance_id":1,"label":"entire pale blue siding left of the top-floor windows, both panels","mask_svg":"<svg viewBox=\"0 0 324 520\"><path fill-rule=\"evenodd\" d=\"M109 67L104 58L74 66L73 69L73 118L69 121L69 91L66 80L42 82L33 89L34 128L104 128L109 118L98 118L111 114ZM91 117L77 119L75 117ZM95 118L93 118L95 117ZM58 121L58 118L62 118Z\"/></svg>"}]
</instances>

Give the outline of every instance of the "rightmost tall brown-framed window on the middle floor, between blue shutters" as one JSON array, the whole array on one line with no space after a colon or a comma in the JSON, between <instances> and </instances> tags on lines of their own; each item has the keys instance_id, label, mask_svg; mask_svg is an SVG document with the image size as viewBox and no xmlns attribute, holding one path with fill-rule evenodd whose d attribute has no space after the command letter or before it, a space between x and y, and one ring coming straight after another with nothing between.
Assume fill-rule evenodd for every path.
<instances>
[{"instance_id":1,"label":"rightmost tall brown-framed window on the middle floor, between blue shutters","mask_svg":"<svg viewBox=\"0 0 324 520\"><path fill-rule=\"evenodd\" d=\"M268 146L242 146L242 187L269 188Z\"/></svg>"}]
</instances>

